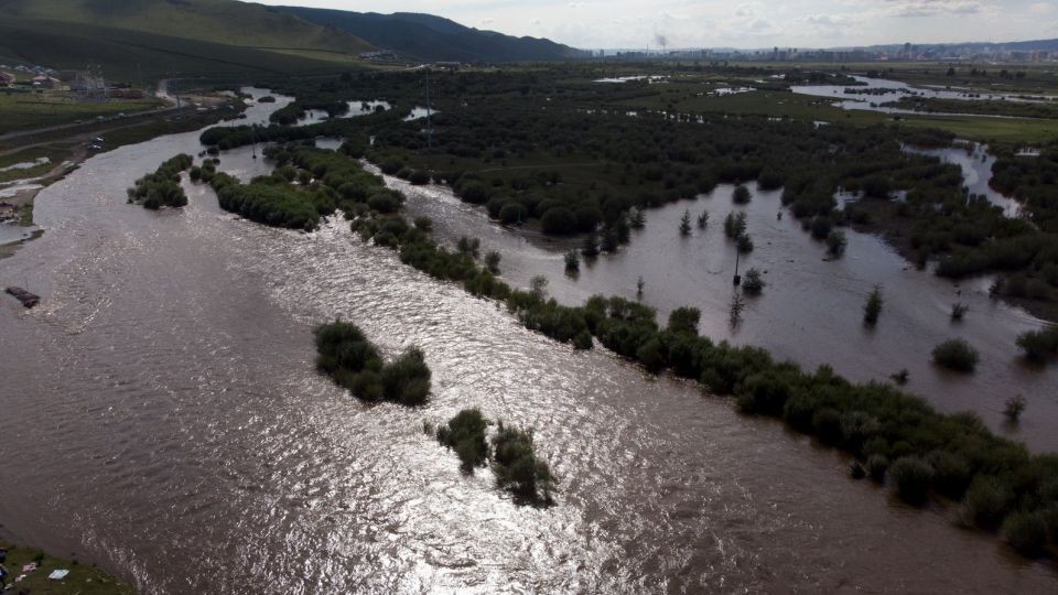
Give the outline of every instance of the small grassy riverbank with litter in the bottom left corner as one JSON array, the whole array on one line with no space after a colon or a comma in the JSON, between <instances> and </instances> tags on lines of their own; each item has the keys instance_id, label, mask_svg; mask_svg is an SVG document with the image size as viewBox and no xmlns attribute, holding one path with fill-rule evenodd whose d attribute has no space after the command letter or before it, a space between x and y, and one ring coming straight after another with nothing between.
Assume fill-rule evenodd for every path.
<instances>
[{"instance_id":1,"label":"small grassy riverbank with litter in the bottom left corner","mask_svg":"<svg viewBox=\"0 0 1058 595\"><path fill-rule=\"evenodd\" d=\"M76 559L67 560L41 550L14 545L0 540L0 552L7 552L0 561L8 571L2 588L13 593L33 595L132 595L131 586L99 570L82 564ZM54 573L54 574L53 574ZM61 578L51 578L50 576Z\"/></svg>"}]
</instances>

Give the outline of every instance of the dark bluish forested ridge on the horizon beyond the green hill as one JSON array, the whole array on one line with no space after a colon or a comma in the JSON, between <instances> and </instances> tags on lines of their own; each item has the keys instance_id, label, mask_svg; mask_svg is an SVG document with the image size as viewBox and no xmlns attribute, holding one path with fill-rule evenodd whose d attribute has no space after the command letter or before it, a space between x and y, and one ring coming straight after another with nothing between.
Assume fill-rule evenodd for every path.
<instances>
[{"instance_id":1,"label":"dark bluish forested ridge on the horizon beyond the green hill","mask_svg":"<svg viewBox=\"0 0 1058 595\"><path fill-rule=\"evenodd\" d=\"M582 57L580 50L537 37L515 37L481 31L432 14L348 12L281 7L311 23L333 26L380 50L407 57L453 62L519 62Z\"/></svg>"}]
</instances>

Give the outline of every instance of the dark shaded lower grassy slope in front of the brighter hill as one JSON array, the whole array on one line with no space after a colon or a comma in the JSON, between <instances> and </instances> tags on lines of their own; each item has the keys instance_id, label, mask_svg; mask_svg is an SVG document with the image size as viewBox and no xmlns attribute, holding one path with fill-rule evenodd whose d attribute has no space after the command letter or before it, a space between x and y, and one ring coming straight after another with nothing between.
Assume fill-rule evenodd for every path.
<instances>
[{"instance_id":1,"label":"dark shaded lower grassy slope in front of the brighter hill","mask_svg":"<svg viewBox=\"0 0 1058 595\"><path fill-rule=\"evenodd\" d=\"M24 62L58 69L83 69L93 63L116 80L138 82L140 72L144 80L154 80L174 75L333 73L359 64L345 54L314 57L90 24L0 19L0 63Z\"/></svg>"}]
</instances>

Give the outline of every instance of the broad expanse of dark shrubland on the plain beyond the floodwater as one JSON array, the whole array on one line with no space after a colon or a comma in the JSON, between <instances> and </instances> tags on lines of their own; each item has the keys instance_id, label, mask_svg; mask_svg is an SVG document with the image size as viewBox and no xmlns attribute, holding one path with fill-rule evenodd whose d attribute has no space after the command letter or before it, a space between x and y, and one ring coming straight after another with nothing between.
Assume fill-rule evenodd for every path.
<instances>
[{"instance_id":1,"label":"broad expanse of dark shrubland on the plain beyond the floodwater","mask_svg":"<svg viewBox=\"0 0 1058 595\"><path fill-rule=\"evenodd\" d=\"M1043 142L1033 156L1019 154L1022 142L990 143L997 156L993 186L1016 198L1026 214L1008 218L982 196L968 198L957 165L903 150L905 144L952 147L950 131L909 127L903 118L876 113L871 116L883 119L865 122L863 115L836 108L825 108L833 110L829 116L778 111L777 117L767 116L768 109L762 115L705 105L681 109L677 106L712 91L711 77L759 78L759 73L717 65L670 68L667 85L594 84L593 74L572 67L439 74L432 127L440 140L432 147L422 122L403 118L420 100L419 74L350 74L287 89L299 100L277 115L276 126L213 129L202 140L223 150L255 139L342 137L348 139L347 154L366 156L386 174L445 184L505 225L550 236L597 235L603 252L627 244L628 229L646 208L693 198L719 184L744 188L734 197L737 203L746 199L745 185L756 182L760 191L781 191L784 206L834 257L845 242L831 231L854 226L879 234L921 268L936 262L940 277L994 274L995 296L1058 321L1058 202L1052 198L1058 142ZM393 107L283 126L306 109L341 115L350 96ZM722 99L769 109L807 100L765 90L732 97ZM839 208L838 192L859 199ZM753 249L748 237L736 241L743 251Z\"/></svg>"}]
</instances>

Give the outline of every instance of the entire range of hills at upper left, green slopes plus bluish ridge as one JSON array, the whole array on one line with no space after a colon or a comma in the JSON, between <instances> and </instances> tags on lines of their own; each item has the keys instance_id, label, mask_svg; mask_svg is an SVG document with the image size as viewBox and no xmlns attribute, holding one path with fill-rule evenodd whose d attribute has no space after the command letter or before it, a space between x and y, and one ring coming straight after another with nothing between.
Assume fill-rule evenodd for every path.
<instances>
[{"instance_id":1,"label":"entire range of hills at upper left, green slopes plus bluish ridge","mask_svg":"<svg viewBox=\"0 0 1058 595\"><path fill-rule=\"evenodd\" d=\"M576 57L548 40L430 14L266 7L236 0L0 0L0 64L102 67L110 78L334 73L360 55L495 63Z\"/></svg>"}]
</instances>

